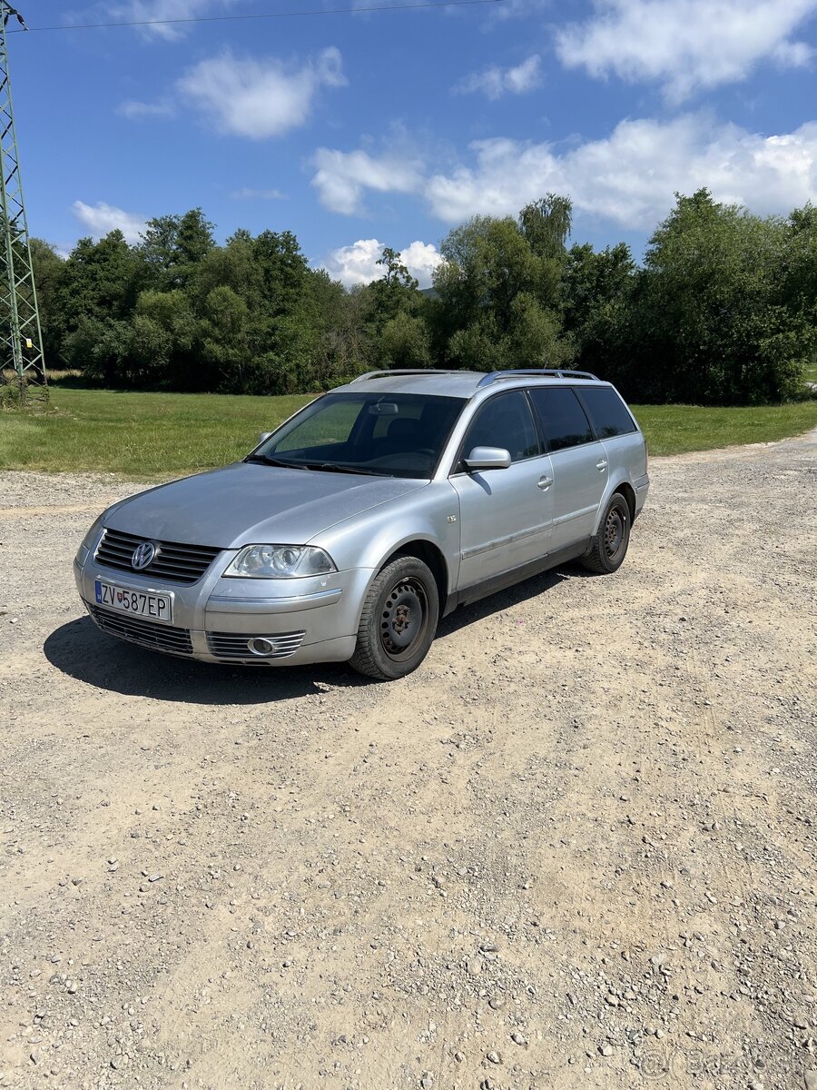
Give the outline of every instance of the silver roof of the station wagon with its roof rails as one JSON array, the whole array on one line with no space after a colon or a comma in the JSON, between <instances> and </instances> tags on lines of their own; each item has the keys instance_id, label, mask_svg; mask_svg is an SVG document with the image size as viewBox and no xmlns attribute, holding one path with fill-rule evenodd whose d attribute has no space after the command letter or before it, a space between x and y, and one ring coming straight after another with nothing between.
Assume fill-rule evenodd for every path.
<instances>
[{"instance_id":1,"label":"silver roof of the station wagon with its roof rails","mask_svg":"<svg viewBox=\"0 0 817 1090\"><path fill-rule=\"evenodd\" d=\"M529 385L609 386L586 371L369 371L331 392L431 393L472 398L487 388Z\"/></svg>"}]
</instances>

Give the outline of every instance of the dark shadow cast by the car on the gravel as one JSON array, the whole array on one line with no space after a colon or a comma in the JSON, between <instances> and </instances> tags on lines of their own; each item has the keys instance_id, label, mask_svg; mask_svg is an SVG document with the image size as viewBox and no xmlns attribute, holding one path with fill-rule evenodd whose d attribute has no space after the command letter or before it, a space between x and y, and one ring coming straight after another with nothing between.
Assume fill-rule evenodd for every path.
<instances>
[{"instance_id":1,"label":"dark shadow cast by the car on the gravel","mask_svg":"<svg viewBox=\"0 0 817 1090\"><path fill-rule=\"evenodd\" d=\"M538 597L562 580L575 577L593 578L578 566L565 566L462 606L440 621L437 639L446 640L476 621ZM52 666L86 685L125 697L184 704L266 704L333 688L382 683L355 674L345 663L280 668L175 658L112 639L100 632L89 617L80 617L56 629L42 650Z\"/></svg>"}]
</instances>

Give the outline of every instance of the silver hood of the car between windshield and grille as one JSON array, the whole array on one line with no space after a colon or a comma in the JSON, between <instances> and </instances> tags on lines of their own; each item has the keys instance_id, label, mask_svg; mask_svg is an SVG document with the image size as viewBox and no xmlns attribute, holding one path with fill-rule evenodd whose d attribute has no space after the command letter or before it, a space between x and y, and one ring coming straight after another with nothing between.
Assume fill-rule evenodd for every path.
<instances>
[{"instance_id":1,"label":"silver hood of the car between windshield and grille","mask_svg":"<svg viewBox=\"0 0 817 1090\"><path fill-rule=\"evenodd\" d=\"M145 538L212 548L304 545L334 523L427 483L237 462L139 493L119 504L106 524Z\"/></svg>"}]
</instances>

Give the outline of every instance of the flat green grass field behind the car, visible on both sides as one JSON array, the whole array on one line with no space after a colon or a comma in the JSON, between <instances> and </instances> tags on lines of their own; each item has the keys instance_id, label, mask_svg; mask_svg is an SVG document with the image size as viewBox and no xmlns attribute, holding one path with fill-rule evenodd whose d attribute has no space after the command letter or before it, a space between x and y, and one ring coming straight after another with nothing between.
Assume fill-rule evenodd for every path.
<instances>
[{"instance_id":1,"label":"flat green grass field behind the car, visible on both sides","mask_svg":"<svg viewBox=\"0 0 817 1090\"><path fill-rule=\"evenodd\" d=\"M52 387L54 412L0 412L0 468L169 477L243 457L306 395L121 393ZM817 401L758 409L634 405L651 455L768 443L817 427Z\"/></svg>"}]
</instances>

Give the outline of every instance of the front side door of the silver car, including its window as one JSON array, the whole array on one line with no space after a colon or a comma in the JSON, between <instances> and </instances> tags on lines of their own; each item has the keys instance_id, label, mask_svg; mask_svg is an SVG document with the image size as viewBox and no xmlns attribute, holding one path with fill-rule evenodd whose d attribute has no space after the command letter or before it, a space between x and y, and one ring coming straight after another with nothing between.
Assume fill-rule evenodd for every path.
<instances>
[{"instance_id":1,"label":"front side door of the silver car, including its window","mask_svg":"<svg viewBox=\"0 0 817 1090\"><path fill-rule=\"evenodd\" d=\"M501 447L508 469L468 472L475 447ZM477 410L450 477L460 497L458 590L542 557L549 548L553 472L523 390L507 390Z\"/></svg>"}]
</instances>

